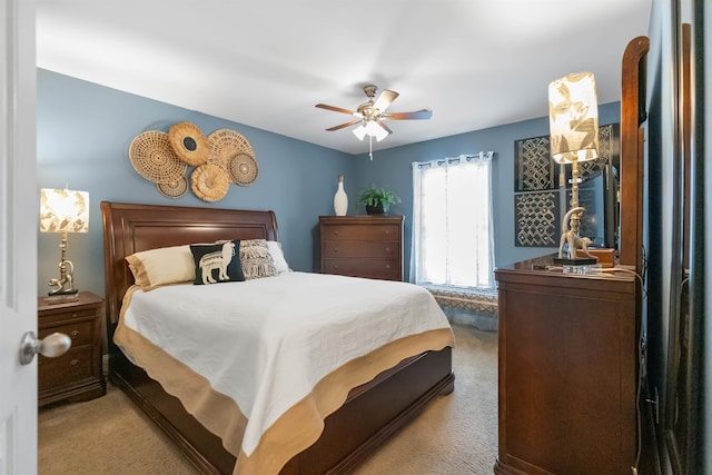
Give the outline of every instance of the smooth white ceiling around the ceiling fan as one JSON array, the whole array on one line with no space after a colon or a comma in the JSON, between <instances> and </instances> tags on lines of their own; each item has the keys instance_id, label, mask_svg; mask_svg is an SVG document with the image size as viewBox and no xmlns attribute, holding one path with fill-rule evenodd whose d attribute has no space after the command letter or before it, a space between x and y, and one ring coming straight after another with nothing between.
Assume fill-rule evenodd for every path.
<instances>
[{"instance_id":1,"label":"smooth white ceiling around the ceiling fan","mask_svg":"<svg viewBox=\"0 0 712 475\"><path fill-rule=\"evenodd\" d=\"M400 96L374 150L548 113L548 83L593 71L620 100L652 0L38 0L37 66L349 154L374 83ZM204 131L206 133L210 130Z\"/></svg>"}]
</instances>

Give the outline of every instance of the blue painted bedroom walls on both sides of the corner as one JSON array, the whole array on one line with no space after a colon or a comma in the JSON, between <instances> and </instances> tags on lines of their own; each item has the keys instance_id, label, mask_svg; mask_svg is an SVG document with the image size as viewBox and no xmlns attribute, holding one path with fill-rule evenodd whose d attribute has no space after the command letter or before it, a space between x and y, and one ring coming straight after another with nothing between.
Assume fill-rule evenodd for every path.
<instances>
[{"instance_id":1,"label":"blue painted bedroom walls on both sides of the corner","mask_svg":"<svg viewBox=\"0 0 712 475\"><path fill-rule=\"evenodd\" d=\"M238 209L271 209L277 215L285 256L296 270L318 269L318 216L332 215L337 176L345 175L349 214L367 184L387 185L403 198L392 214L405 218L405 275L409 271L412 175L411 162L493 150L495 265L553 253L553 248L514 246L514 141L548 133L546 105L542 118L476 130L405 147L352 156L217 117L134 96L91 82L38 69L37 170L40 188L86 190L90 194L90 226L85 235L69 236L68 259L76 267L80 289L103 295L102 200ZM601 125L620 120L620 103L600 107ZM161 196L155 185L131 167L128 149L145 130L168 131L189 121L207 135L230 128L249 140L259 166L249 187L230 185L224 199L208 204L190 191L178 199ZM38 190L39 192L39 190ZM38 291L59 271L59 235L38 237Z\"/></svg>"}]
</instances>

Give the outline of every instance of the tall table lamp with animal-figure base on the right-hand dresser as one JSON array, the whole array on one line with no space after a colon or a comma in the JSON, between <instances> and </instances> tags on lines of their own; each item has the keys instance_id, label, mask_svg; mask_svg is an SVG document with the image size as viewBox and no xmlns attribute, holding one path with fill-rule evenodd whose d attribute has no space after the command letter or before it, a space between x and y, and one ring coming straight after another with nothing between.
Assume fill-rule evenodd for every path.
<instances>
[{"instance_id":1,"label":"tall table lamp with animal-figure base on the right-hand dresser","mask_svg":"<svg viewBox=\"0 0 712 475\"><path fill-rule=\"evenodd\" d=\"M578 236L585 208L578 205L578 162L599 157L599 105L593 72L575 72L548 85L548 117L552 159L571 164L571 209L562 219L562 236L556 264L590 265L591 239ZM564 257L566 248L567 257ZM577 257L577 250L587 256Z\"/></svg>"}]
</instances>

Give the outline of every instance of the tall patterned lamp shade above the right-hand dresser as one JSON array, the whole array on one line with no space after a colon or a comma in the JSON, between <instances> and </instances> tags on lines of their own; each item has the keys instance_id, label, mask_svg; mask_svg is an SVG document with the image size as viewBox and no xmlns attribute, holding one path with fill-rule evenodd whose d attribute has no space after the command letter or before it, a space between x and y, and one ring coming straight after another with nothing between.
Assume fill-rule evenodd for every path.
<instances>
[{"instance_id":1,"label":"tall patterned lamp shade above the right-hand dresser","mask_svg":"<svg viewBox=\"0 0 712 475\"><path fill-rule=\"evenodd\" d=\"M593 72L575 72L548 85L552 159L558 164L599 157L599 103Z\"/></svg>"}]
</instances>

